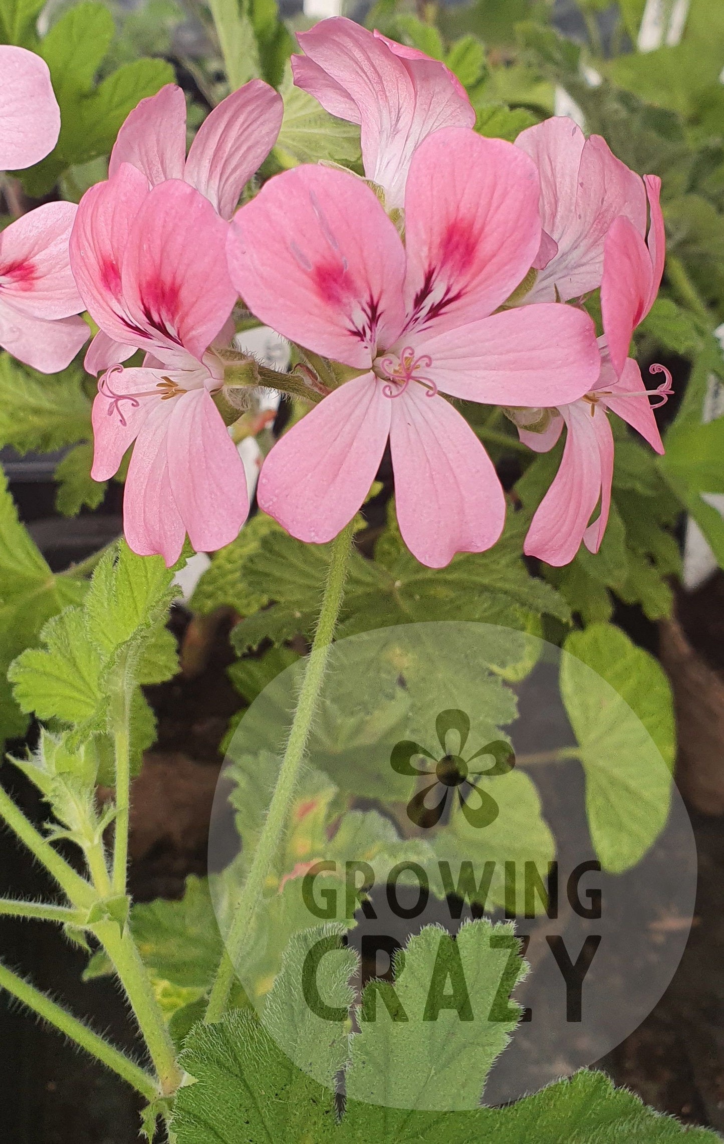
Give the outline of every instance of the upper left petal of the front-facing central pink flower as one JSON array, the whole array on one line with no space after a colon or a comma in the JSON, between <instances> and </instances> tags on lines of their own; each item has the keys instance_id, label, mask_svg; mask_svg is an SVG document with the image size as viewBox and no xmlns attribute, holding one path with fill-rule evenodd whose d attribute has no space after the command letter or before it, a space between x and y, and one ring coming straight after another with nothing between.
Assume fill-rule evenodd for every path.
<instances>
[{"instance_id":1,"label":"upper left petal of the front-facing central pink flower","mask_svg":"<svg viewBox=\"0 0 724 1144\"><path fill-rule=\"evenodd\" d=\"M369 367L403 328L403 244L355 175L303 166L270 178L233 219L228 253L256 317L318 353Z\"/></svg>"}]
</instances>

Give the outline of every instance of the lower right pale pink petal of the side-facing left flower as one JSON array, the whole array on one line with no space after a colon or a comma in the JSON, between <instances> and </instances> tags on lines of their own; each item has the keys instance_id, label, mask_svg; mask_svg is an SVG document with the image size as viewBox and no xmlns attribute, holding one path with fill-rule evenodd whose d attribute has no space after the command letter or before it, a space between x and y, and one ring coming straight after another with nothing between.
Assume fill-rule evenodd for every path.
<instances>
[{"instance_id":1,"label":"lower right pale pink petal of the side-facing left flower","mask_svg":"<svg viewBox=\"0 0 724 1144\"><path fill-rule=\"evenodd\" d=\"M244 463L206 389L173 403L168 475L174 500L197 553L230 545L247 518Z\"/></svg>"}]
</instances>

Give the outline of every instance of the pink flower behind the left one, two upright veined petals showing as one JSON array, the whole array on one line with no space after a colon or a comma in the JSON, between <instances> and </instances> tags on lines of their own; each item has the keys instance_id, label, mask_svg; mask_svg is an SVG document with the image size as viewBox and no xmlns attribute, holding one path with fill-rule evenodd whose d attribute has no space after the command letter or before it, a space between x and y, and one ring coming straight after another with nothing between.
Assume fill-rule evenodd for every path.
<instances>
[{"instance_id":1,"label":"pink flower behind the left one, two upright veined petals showing","mask_svg":"<svg viewBox=\"0 0 724 1144\"><path fill-rule=\"evenodd\" d=\"M186 101L167 84L130 112L111 152L109 175L129 162L156 186L181 178L204 194L222 219L231 219L239 196L277 142L284 105L269 84L253 79L206 117L186 158ZM86 355L88 373L125 362L136 349L101 332Z\"/></svg>"}]
</instances>

